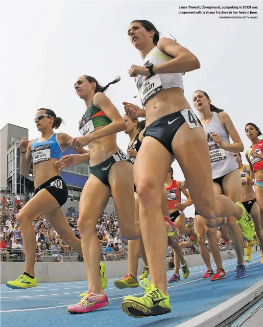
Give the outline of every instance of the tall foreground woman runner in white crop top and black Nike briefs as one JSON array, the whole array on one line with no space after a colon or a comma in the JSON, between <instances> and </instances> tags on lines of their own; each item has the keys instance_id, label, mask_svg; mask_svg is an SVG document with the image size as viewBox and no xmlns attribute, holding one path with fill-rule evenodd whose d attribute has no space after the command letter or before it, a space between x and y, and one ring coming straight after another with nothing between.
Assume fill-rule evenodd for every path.
<instances>
[{"instance_id":1,"label":"tall foreground woman runner in white crop top and black Nike briefs","mask_svg":"<svg viewBox=\"0 0 263 327\"><path fill-rule=\"evenodd\" d=\"M182 73L200 67L196 56L174 40L159 40L158 31L147 20L131 22L128 36L143 60L142 66L130 67L129 75L136 77L139 96L145 106L147 127L134 165L134 180L151 284L144 286L144 296L125 297L122 309L133 317L145 317L171 312L165 278L166 229L161 198L174 156L197 211L205 219L234 216L245 224L250 218L242 204L236 205L224 196L214 197L206 136L183 94ZM142 113L137 109L126 105L126 113L132 118ZM201 184L203 192L200 192ZM249 231L253 228L248 222L246 227L249 239Z\"/></svg>"}]
</instances>

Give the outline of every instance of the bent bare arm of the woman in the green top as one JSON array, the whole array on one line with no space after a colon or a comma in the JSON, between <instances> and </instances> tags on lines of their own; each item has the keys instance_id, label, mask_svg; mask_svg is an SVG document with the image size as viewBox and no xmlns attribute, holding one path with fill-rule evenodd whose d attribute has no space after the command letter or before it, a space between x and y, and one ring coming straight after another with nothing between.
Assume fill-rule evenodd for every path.
<instances>
[{"instance_id":1,"label":"bent bare arm of the woman in the green top","mask_svg":"<svg viewBox=\"0 0 263 327\"><path fill-rule=\"evenodd\" d=\"M111 120L111 123L104 128L89 134L92 141L97 138L122 132L127 128L125 120L122 118L121 114L119 114L118 109L102 92L95 94L93 103L107 115Z\"/></svg>"}]
</instances>

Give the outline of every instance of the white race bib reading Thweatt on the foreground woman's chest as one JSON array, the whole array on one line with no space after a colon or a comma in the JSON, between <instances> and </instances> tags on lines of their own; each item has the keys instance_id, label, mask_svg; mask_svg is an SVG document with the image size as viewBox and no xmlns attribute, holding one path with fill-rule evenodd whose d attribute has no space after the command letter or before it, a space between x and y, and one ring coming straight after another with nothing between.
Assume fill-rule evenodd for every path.
<instances>
[{"instance_id":1,"label":"white race bib reading Thweatt on the foreground woman's chest","mask_svg":"<svg viewBox=\"0 0 263 327\"><path fill-rule=\"evenodd\" d=\"M139 90L139 97L142 105L146 103L157 92L163 89L159 74L154 76L141 76L138 75L137 88Z\"/></svg>"}]
</instances>

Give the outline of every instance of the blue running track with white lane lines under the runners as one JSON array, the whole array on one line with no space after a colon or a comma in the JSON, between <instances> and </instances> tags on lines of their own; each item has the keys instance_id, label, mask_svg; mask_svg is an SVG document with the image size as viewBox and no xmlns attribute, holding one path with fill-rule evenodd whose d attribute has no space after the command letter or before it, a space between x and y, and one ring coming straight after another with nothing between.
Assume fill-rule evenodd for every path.
<instances>
[{"instance_id":1,"label":"blue running track with white lane lines under the runners","mask_svg":"<svg viewBox=\"0 0 263 327\"><path fill-rule=\"evenodd\" d=\"M87 314L69 314L66 307L77 303L78 295L87 290L87 282L39 284L37 288L12 290L1 285L1 325L5 327L163 327L176 326L218 306L263 278L260 253L252 254L247 264L247 278L235 280L236 259L223 262L227 277L217 282L202 279L204 265L190 267L190 275L180 282L168 284L172 312L145 319L131 318L121 310L121 301L130 294L144 294L141 287L118 290L114 278L109 279L106 294L110 303L101 310ZM214 264L212 265L215 268ZM168 271L167 276L172 276Z\"/></svg>"}]
</instances>

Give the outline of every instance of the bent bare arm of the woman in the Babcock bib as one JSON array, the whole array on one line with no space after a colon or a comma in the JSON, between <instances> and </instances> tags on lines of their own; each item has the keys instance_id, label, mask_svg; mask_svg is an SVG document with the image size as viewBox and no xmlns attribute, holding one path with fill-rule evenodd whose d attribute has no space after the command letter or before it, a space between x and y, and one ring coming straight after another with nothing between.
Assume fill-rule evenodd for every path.
<instances>
[{"instance_id":1,"label":"bent bare arm of the woman in the Babcock bib","mask_svg":"<svg viewBox=\"0 0 263 327\"><path fill-rule=\"evenodd\" d=\"M224 143L221 141L221 138L217 134L212 134L212 140L217 143L221 149L227 150L229 152L243 152L244 151L244 145L241 141L241 138L239 134L237 133L237 130L234 127L233 122L231 121L231 118L226 112L220 112L218 114L218 118L220 123L226 128L228 134L230 135L232 141L234 143Z\"/></svg>"}]
</instances>

